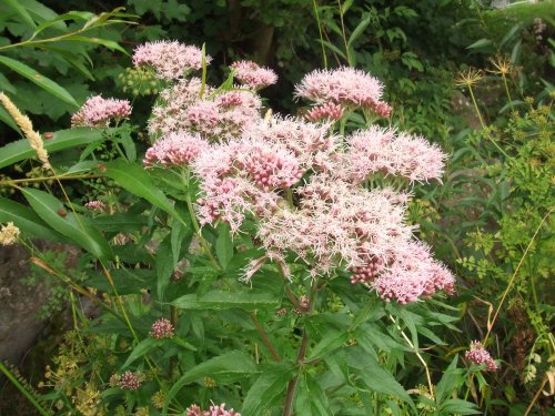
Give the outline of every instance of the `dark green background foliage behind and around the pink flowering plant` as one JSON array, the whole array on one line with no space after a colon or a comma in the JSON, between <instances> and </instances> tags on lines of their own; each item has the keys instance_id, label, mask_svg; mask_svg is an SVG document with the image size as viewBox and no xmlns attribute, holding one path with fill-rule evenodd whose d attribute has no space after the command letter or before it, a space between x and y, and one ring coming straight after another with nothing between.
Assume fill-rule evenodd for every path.
<instances>
[{"instance_id":1,"label":"dark green background foliage behind and around the pink flowering plant","mask_svg":"<svg viewBox=\"0 0 555 416\"><path fill-rule=\"evenodd\" d=\"M453 386L464 384L464 398L485 414L546 415L553 414L555 389L554 10L552 1L501 10L475 0L3 1L0 90L49 132L68 129L79 104L97 93L130 99L133 122L144 125L155 98L127 71L130 53L144 41L205 43L214 58L208 74L213 83L238 59L269 65L280 81L263 95L269 106L292 113L304 110L289 99L293 85L312 69L352 65L371 72L386 85L394 125L425 135L451 154L443 186L415 187L418 199L410 207L418 237L457 276L457 294L447 301L453 321L442 322L433 336L421 333L434 384L451 374ZM1 108L0 120L1 145L20 139ZM145 139L138 143L144 151ZM72 152L59 152L54 161L72 160ZM107 146L103 158L114 152ZM33 162L12 163L1 154L0 166L3 180L41 174ZM112 185L75 181L67 190L72 199L89 201ZM23 202L9 187L0 192ZM63 258L54 255L52 262ZM89 278L87 264L72 274ZM46 277L36 270L26 278ZM52 303L44 312L71 304L68 293L52 283ZM74 336L68 336L68 345ZM497 373L463 379L462 373L447 371L473 339L486 341L501 359ZM91 337L90 351L80 356L101 351L95 342ZM60 359L69 353L53 354ZM28 363L27 368L46 364L53 365ZM416 358L404 366L395 367L397 382L425 384ZM37 386L41 379L34 372L27 382ZM205 383L199 394L211 388ZM8 387L0 394L2 412L22 414L10 408ZM418 412L425 414L422 403Z\"/></svg>"}]
</instances>

